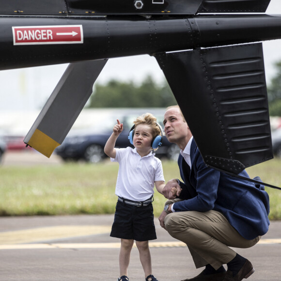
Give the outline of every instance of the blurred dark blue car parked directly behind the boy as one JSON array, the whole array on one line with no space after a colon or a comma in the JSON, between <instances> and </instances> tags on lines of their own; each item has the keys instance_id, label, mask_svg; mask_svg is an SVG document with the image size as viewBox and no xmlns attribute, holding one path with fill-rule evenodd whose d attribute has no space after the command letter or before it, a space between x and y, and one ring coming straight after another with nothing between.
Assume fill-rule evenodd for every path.
<instances>
[{"instance_id":1,"label":"blurred dark blue car parked directly behind the boy","mask_svg":"<svg viewBox=\"0 0 281 281\"><path fill-rule=\"evenodd\" d=\"M115 147L123 148L133 147L129 140L129 130L133 125L133 120L142 113L151 112L157 118L157 121L163 128L162 120L165 109L104 109L93 110L92 125L86 128L73 128L62 144L56 148L55 153L62 157L63 160L85 160L87 162L97 163L107 158L104 153L104 146L112 134L113 126L117 123L118 118L123 123L123 132L119 135ZM85 121L86 122L86 121ZM167 157L168 159L177 160L179 148L177 145L170 143L163 136L162 145L157 149L157 157Z\"/></svg>"}]
</instances>

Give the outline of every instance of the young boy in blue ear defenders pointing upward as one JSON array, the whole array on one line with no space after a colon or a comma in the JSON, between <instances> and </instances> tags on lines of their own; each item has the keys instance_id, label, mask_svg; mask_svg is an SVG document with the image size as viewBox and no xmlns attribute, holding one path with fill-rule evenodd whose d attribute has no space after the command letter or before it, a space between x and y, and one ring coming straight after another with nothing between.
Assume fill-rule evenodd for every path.
<instances>
[{"instance_id":1,"label":"young boy in blue ear defenders pointing upward","mask_svg":"<svg viewBox=\"0 0 281 281\"><path fill-rule=\"evenodd\" d=\"M165 186L161 161L152 153L152 146L155 147L152 141L157 135L162 136L162 132L151 113L139 116L134 124L134 131L131 131L134 149L114 148L123 131L123 124L118 119L104 148L111 161L119 162L115 189L118 201L110 236L121 238L120 277L117 281L129 280L128 266L134 240L140 253L145 280L157 281L152 275L148 240L156 239L152 206L154 185L161 194Z\"/></svg>"}]
</instances>

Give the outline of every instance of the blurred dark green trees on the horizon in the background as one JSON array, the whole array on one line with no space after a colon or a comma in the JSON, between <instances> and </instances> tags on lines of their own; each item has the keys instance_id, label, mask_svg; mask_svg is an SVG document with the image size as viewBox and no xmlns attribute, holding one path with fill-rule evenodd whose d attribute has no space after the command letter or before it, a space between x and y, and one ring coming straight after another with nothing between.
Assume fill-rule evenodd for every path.
<instances>
[{"instance_id":1,"label":"blurred dark green trees on the horizon in the background","mask_svg":"<svg viewBox=\"0 0 281 281\"><path fill-rule=\"evenodd\" d=\"M277 74L267 87L269 114L281 116L281 61L275 64ZM140 85L132 81L110 80L107 84L96 84L90 98L91 108L165 108L175 105L176 100L167 83L157 84L147 76Z\"/></svg>"}]
</instances>

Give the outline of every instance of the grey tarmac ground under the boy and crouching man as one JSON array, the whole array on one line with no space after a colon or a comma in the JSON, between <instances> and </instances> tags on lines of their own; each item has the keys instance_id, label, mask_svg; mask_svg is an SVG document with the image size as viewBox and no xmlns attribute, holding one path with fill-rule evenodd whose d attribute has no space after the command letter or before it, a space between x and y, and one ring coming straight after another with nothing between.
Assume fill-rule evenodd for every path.
<instances>
[{"instance_id":1,"label":"grey tarmac ground under the boy and crouching man","mask_svg":"<svg viewBox=\"0 0 281 281\"><path fill-rule=\"evenodd\" d=\"M116 281L120 241L109 236L113 215L0 218L0 281ZM150 242L158 281L198 275L187 247L155 219L157 239ZM272 221L260 242L234 249L255 267L249 281L281 281L281 221ZM144 281L133 248L130 281Z\"/></svg>"}]
</instances>

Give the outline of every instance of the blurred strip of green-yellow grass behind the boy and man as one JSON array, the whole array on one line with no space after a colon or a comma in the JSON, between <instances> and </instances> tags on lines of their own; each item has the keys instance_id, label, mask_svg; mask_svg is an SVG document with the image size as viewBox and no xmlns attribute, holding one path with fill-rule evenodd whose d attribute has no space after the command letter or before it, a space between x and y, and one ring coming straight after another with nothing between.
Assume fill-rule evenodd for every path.
<instances>
[{"instance_id":1,"label":"blurred strip of green-yellow grass behind the boy and man","mask_svg":"<svg viewBox=\"0 0 281 281\"><path fill-rule=\"evenodd\" d=\"M176 162L163 161L166 181L179 178ZM281 159L247 169L266 183L281 187ZM111 214L117 197L118 164L68 163L59 166L2 166L0 168L0 216ZM266 188L270 219L281 219L281 190ZM166 199L155 193L155 216Z\"/></svg>"}]
</instances>

